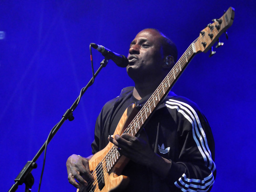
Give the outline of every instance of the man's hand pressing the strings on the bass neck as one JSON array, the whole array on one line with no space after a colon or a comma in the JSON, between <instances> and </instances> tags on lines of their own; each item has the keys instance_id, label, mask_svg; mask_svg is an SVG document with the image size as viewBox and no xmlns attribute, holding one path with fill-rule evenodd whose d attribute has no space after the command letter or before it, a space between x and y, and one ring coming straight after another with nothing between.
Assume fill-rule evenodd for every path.
<instances>
[{"instance_id":1,"label":"man's hand pressing the strings on the bass neck","mask_svg":"<svg viewBox=\"0 0 256 192\"><path fill-rule=\"evenodd\" d=\"M130 158L135 163L151 166L156 154L150 148L147 140L140 137L134 137L131 134L124 133L122 137L115 135L115 137L108 137L109 141L118 147L120 154Z\"/></svg>"}]
</instances>

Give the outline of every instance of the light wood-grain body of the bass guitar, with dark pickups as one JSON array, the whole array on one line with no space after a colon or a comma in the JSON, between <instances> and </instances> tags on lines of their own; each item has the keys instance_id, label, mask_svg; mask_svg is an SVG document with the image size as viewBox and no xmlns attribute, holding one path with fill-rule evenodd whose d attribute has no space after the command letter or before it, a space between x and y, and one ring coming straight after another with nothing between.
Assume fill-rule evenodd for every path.
<instances>
[{"instance_id":1,"label":"light wood-grain body of the bass guitar, with dark pickups","mask_svg":"<svg viewBox=\"0 0 256 192\"><path fill-rule=\"evenodd\" d=\"M122 135L137 113L138 109L135 104L130 105L123 113L113 137L116 134ZM86 188L77 189L77 192L121 191L129 182L128 177L120 175L128 161L129 159L123 155L120 156L116 146L109 142L104 149L94 154L89 160L90 172L94 177L94 182L89 183Z\"/></svg>"}]
</instances>

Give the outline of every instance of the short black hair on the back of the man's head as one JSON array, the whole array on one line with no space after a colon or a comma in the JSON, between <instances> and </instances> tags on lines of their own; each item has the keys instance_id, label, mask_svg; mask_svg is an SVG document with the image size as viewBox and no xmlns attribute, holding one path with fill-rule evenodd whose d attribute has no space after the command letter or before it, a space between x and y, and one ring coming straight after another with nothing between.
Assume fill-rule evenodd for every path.
<instances>
[{"instance_id":1,"label":"short black hair on the back of the man's head","mask_svg":"<svg viewBox=\"0 0 256 192\"><path fill-rule=\"evenodd\" d=\"M175 43L170 38L166 37L166 35L164 35L158 29L154 29L154 28L147 28L147 29L153 29L153 30L157 31L162 36L162 42L161 43L162 43L162 46L163 46L163 55L173 56L174 61L176 63L177 58L178 58L178 50L177 50L177 47L176 47Z\"/></svg>"}]
</instances>

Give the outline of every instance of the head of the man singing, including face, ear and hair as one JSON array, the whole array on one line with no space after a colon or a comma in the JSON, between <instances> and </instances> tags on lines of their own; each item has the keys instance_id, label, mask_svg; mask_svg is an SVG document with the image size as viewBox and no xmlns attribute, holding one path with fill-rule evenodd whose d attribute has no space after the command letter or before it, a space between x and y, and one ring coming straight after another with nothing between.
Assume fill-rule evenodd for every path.
<instances>
[{"instance_id":1,"label":"head of the man singing, including face, ear and hair","mask_svg":"<svg viewBox=\"0 0 256 192\"><path fill-rule=\"evenodd\" d=\"M128 75L136 82L162 80L177 60L175 44L157 29L144 29L130 44Z\"/></svg>"}]
</instances>

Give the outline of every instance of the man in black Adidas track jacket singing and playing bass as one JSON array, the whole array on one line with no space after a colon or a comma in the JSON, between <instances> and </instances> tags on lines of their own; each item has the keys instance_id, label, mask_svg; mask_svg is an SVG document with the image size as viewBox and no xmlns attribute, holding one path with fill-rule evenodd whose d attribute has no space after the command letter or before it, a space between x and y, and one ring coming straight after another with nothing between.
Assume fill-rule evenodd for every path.
<instances>
[{"instance_id":1,"label":"man in black Adidas track jacket singing and playing bass","mask_svg":"<svg viewBox=\"0 0 256 192\"><path fill-rule=\"evenodd\" d=\"M135 86L124 88L102 108L93 154L111 142L130 159L122 172L130 177L127 192L209 191L216 174L214 140L204 115L188 99L170 92L138 137L109 136L129 105L143 106L156 90L174 66L177 49L161 32L144 29L131 42L128 60L127 73ZM93 180L90 157L73 154L67 160L68 179L76 188Z\"/></svg>"}]
</instances>

